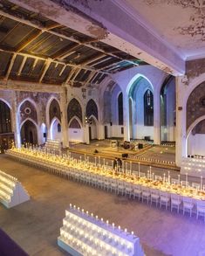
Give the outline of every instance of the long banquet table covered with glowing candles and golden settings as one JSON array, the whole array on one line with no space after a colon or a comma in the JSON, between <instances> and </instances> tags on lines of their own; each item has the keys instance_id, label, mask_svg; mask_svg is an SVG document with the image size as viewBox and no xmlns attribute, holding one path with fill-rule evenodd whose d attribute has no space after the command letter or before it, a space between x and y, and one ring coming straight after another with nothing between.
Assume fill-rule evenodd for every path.
<instances>
[{"instance_id":1,"label":"long banquet table covered with glowing candles and golden settings","mask_svg":"<svg viewBox=\"0 0 205 256\"><path fill-rule=\"evenodd\" d=\"M10 149L6 154L19 161L28 163L32 166L39 167L43 170L50 171L59 176L65 176L67 178L74 178L78 181L85 179L85 176L90 176L90 184L92 182L98 182L100 179L106 182L107 190L112 190L112 183L115 183L117 189L122 184L124 188L139 186L140 188L148 188L149 190L158 190L167 192L167 195L191 198L195 204L203 204L205 206L205 191L197 190L192 187L183 187L181 184L171 184L170 182L163 180L154 180L147 178L146 176L137 176L128 173L120 173L113 170L108 166L99 166L95 163L85 162L77 159L73 159L68 156L57 156L48 154L41 150L36 149Z\"/></svg>"}]
</instances>

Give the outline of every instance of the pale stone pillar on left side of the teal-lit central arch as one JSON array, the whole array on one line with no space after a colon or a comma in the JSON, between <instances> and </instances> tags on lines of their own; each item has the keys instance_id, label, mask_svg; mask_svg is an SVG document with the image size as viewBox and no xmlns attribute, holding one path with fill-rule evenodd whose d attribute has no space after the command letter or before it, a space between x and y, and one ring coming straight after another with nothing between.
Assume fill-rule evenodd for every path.
<instances>
[{"instance_id":1,"label":"pale stone pillar on left side of the teal-lit central arch","mask_svg":"<svg viewBox=\"0 0 205 256\"><path fill-rule=\"evenodd\" d=\"M130 141L130 121L129 121L129 97L123 93L123 122L124 122L124 141Z\"/></svg>"}]
</instances>

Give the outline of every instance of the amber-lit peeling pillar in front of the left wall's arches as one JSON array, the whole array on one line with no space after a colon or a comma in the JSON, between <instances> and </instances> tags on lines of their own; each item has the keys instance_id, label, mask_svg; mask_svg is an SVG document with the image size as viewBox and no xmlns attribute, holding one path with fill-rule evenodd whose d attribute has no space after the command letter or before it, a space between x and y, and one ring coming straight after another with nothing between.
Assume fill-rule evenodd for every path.
<instances>
[{"instance_id":1,"label":"amber-lit peeling pillar in front of the left wall's arches","mask_svg":"<svg viewBox=\"0 0 205 256\"><path fill-rule=\"evenodd\" d=\"M60 93L60 116L61 116L61 133L63 148L69 147L68 141L68 123L67 123L67 109L66 109L66 91Z\"/></svg>"}]
</instances>

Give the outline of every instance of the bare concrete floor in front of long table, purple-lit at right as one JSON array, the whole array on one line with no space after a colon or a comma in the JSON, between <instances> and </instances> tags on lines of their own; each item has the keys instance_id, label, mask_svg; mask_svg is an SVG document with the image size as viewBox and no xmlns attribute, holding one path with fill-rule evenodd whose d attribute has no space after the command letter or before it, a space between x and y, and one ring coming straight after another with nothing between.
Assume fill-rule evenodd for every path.
<instances>
[{"instance_id":1,"label":"bare concrete floor in front of long table, purple-lit at right","mask_svg":"<svg viewBox=\"0 0 205 256\"><path fill-rule=\"evenodd\" d=\"M0 169L16 176L31 201L10 210L0 205L0 226L30 255L66 255L57 246L70 203L135 232L149 256L205 255L205 224L195 216L170 212L44 173L0 156Z\"/></svg>"}]
</instances>

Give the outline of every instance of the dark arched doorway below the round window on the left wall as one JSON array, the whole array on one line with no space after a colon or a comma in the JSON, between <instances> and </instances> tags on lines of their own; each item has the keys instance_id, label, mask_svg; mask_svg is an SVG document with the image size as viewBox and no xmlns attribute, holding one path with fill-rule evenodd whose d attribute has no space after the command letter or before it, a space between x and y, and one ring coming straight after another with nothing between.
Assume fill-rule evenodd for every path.
<instances>
[{"instance_id":1,"label":"dark arched doorway below the round window on the left wall","mask_svg":"<svg viewBox=\"0 0 205 256\"><path fill-rule=\"evenodd\" d=\"M24 121L21 127L21 142L24 143L31 143L31 144L38 144L38 132L37 127L31 120Z\"/></svg>"}]
</instances>

